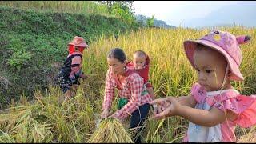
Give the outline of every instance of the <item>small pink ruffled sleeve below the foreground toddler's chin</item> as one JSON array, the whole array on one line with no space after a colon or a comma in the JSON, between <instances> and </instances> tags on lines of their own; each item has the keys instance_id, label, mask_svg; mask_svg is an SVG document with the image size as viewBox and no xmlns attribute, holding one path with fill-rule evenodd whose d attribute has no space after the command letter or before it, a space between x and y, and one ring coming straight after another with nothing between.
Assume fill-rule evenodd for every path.
<instances>
[{"instance_id":1,"label":"small pink ruffled sleeve below the foreground toddler's chin","mask_svg":"<svg viewBox=\"0 0 256 144\"><path fill-rule=\"evenodd\" d=\"M192 86L190 94L195 99L196 102L201 102L204 98L206 98L206 91L203 90L202 86L198 83L195 83Z\"/></svg>"}]
</instances>

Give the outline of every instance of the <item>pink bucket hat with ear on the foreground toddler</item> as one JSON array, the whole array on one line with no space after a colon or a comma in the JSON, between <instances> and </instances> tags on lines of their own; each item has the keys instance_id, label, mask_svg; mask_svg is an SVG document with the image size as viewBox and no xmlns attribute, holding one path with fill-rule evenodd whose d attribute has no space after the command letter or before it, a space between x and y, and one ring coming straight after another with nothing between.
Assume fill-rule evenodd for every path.
<instances>
[{"instance_id":1,"label":"pink bucket hat with ear on the foreground toddler","mask_svg":"<svg viewBox=\"0 0 256 144\"><path fill-rule=\"evenodd\" d=\"M184 49L186 57L189 59L191 65L194 67L194 50L197 44L208 46L214 50L218 50L226 58L226 61L230 66L230 74L228 74L230 80L242 81L244 78L239 70L239 66L242 62L242 52L239 44L249 42L250 36L242 35L235 37L225 31L214 30L210 34L206 34L198 40L186 40L184 42Z\"/></svg>"}]
</instances>

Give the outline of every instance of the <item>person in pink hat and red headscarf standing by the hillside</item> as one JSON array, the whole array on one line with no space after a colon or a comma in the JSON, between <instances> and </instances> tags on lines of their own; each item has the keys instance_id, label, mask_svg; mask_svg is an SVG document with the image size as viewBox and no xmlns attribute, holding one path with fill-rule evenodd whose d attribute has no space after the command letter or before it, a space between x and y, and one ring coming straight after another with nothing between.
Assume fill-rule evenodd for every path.
<instances>
[{"instance_id":1,"label":"person in pink hat and red headscarf standing by the hillside","mask_svg":"<svg viewBox=\"0 0 256 144\"><path fill-rule=\"evenodd\" d=\"M82 52L89 47L82 37L75 36L73 41L69 43L69 54L62 66L62 69L58 73L58 84L60 85L62 95L59 99L60 102L63 99L69 99L72 95L72 87L74 90L80 85L78 78L87 78L82 72ZM63 98L64 97L64 98Z\"/></svg>"}]
</instances>

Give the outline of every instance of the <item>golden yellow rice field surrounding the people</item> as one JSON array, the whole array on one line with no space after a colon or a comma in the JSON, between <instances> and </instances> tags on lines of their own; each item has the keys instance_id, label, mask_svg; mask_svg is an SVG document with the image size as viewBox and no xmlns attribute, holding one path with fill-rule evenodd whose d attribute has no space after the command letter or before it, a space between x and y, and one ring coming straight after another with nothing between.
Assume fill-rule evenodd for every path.
<instances>
[{"instance_id":1,"label":"golden yellow rice field surrounding the people","mask_svg":"<svg viewBox=\"0 0 256 144\"><path fill-rule=\"evenodd\" d=\"M241 26L218 27L232 34L248 34L252 41L242 48L242 74L244 82L233 82L233 86L242 94L256 94L256 29ZM182 96L190 93L190 86L196 82L196 73L187 61L182 42L186 39L201 38L210 29L143 29L130 34L120 34L118 38L102 35L96 42L90 44L90 49L84 51L82 69L89 78L82 80L82 85L70 101L58 104L62 94L58 86L50 86L46 91L37 91L34 101L13 102L9 109L0 114L0 142L102 142L95 134L118 125L120 131L127 130L127 122L114 124L105 123L98 129L99 114L102 113L104 84L106 78L106 54L114 47L122 48L129 60L135 50L144 50L150 56L150 82L154 86L157 98L166 96ZM112 110L117 110L117 99ZM150 114L153 114L150 111ZM123 127L122 127L123 126ZM180 117L146 121L143 142L182 142L188 122ZM117 131L118 131L117 130ZM112 141L118 138L113 131L109 133ZM122 133L126 135L126 133ZM251 141L255 127L236 130L238 142ZM126 135L127 136L127 135ZM126 140L129 137L126 137ZM248 138L249 137L249 138ZM91 139L97 139L97 141ZM241 138L241 139L239 139ZM250 140L250 141L249 141ZM120 140L121 141L121 140Z\"/></svg>"}]
</instances>

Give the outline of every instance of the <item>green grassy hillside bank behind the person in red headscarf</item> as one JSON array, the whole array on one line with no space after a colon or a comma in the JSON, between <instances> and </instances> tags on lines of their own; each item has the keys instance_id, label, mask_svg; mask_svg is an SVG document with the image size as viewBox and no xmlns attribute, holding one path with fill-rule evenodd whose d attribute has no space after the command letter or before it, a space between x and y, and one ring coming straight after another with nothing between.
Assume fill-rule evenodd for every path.
<instances>
[{"instance_id":1,"label":"green grassy hillside bank behind the person in red headscarf","mask_svg":"<svg viewBox=\"0 0 256 144\"><path fill-rule=\"evenodd\" d=\"M135 30L119 18L100 14L38 12L0 6L1 108L21 94L32 97L53 81L75 35L86 42L102 34Z\"/></svg>"}]
</instances>

